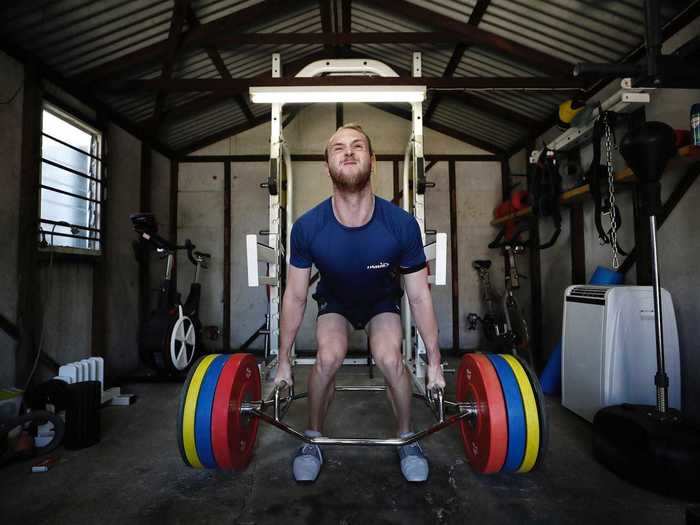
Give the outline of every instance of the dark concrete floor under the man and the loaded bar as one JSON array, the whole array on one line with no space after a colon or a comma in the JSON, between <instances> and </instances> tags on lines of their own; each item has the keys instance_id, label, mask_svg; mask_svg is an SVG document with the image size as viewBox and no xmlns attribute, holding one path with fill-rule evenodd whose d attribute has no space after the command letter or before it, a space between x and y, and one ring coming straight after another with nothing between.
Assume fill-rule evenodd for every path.
<instances>
[{"instance_id":1,"label":"dark concrete floor under the man and the loaded bar","mask_svg":"<svg viewBox=\"0 0 700 525\"><path fill-rule=\"evenodd\" d=\"M298 390L307 371L295 372ZM366 367L338 376L338 384L371 383L382 380L370 381ZM589 424L556 399L548 400L550 448L536 472L477 475L457 429L446 429L424 441L431 464L425 484L403 480L393 449L333 447L317 482L298 485L291 476L298 442L265 424L245 472L186 467L175 442L179 390L174 383L127 385L138 400L101 410L98 445L58 449L58 463L45 474L31 474L29 461L4 467L0 523L685 523L684 502L638 489L595 463ZM306 402L295 403L285 420L303 429ZM432 422L415 400L415 427ZM393 435L384 394L338 393L326 434Z\"/></svg>"}]
</instances>

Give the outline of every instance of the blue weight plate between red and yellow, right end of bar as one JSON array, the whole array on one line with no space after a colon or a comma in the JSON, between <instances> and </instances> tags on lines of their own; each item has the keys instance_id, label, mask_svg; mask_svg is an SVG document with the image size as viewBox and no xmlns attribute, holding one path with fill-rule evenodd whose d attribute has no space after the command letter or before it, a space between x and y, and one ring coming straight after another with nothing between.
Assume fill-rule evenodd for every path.
<instances>
[{"instance_id":1,"label":"blue weight plate between red and yellow, right end of bar","mask_svg":"<svg viewBox=\"0 0 700 525\"><path fill-rule=\"evenodd\" d=\"M505 359L496 354L488 354L488 358L496 369L498 379L501 382L508 416L508 452L501 470L503 472L516 472L523 461L527 437L523 399L515 374Z\"/></svg>"}]
</instances>

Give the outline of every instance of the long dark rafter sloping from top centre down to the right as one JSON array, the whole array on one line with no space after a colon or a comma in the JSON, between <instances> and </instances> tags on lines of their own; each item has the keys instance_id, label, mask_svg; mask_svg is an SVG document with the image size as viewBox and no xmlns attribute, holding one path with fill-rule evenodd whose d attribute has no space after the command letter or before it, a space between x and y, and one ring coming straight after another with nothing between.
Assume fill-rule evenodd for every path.
<instances>
[{"instance_id":1,"label":"long dark rafter sloping from top centre down to the right","mask_svg":"<svg viewBox=\"0 0 700 525\"><path fill-rule=\"evenodd\" d=\"M543 53L531 47L519 44L494 33L473 27L466 22L459 22L430 9L420 7L406 0L365 0L380 9L385 9L398 16L406 17L422 24L429 24L435 29L455 33L461 41L486 47L504 55L515 62L523 62L539 71L553 76L571 76L573 64Z\"/></svg>"}]
</instances>

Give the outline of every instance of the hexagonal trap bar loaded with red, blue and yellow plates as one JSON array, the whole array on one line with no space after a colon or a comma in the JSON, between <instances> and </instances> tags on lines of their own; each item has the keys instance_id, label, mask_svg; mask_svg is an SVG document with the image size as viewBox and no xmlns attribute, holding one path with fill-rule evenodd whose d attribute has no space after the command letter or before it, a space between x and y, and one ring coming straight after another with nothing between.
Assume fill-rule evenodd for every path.
<instances>
[{"instance_id":1,"label":"hexagonal trap bar loaded with red, blue and yellow plates","mask_svg":"<svg viewBox=\"0 0 700 525\"><path fill-rule=\"evenodd\" d=\"M336 391L381 391L383 386L339 386ZM242 470L253 456L260 420L318 445L401 446L458 424L472 469L479 473L524 473L544 458L548 421L537 376L519 357L466 354L456 384L456 400L442 390L414 393L437 422L408 438L311 438L283 422L292 401L306 397L277 385L262 399L260 371L250 354L210 354L190 369L180 392L177 443L193 468ZM268 413L272 409L272 414Z\"/></svg>"}]
</instances>

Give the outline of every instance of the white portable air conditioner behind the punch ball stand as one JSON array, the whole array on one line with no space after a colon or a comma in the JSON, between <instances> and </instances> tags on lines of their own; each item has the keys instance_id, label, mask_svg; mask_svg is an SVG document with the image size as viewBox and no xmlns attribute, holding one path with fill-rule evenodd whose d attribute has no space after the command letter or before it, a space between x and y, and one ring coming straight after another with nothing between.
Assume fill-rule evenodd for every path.
<instances>
[{"instance_id":1,"label":"white portable air conditioner behind the punch ball stand","mask_svg":"<svg viewBox=\"0 0 700 525\"><path fill-rule=\"evenodd\" d=\"M656 405L656 336L651 286L569 286L564 295L562 405L593 421L621 403ZM668 405L681 408L678 330L662 289Z\"/></svg>"}]
</instances>

